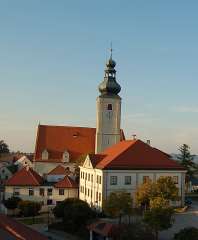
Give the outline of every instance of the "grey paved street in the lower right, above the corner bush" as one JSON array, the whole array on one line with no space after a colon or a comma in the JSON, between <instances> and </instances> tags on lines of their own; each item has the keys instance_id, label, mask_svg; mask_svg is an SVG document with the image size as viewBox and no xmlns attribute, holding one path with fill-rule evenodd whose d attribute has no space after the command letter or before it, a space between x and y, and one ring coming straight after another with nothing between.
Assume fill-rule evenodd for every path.
<instances>
[{"instance_id":1,"label":"grey paved street in the lower right, above the corner bush","mask_svg":"<svg viewBox=\"0 0 198 240\"><path fill-rule=\"evenodd\" d=\"M193 201L191 207L184 213L175 214L175 222L172 228L159 234L160 240L171 240L174 234L185 227L198 228L198 201Z\"/></svg>"}]
</instances>

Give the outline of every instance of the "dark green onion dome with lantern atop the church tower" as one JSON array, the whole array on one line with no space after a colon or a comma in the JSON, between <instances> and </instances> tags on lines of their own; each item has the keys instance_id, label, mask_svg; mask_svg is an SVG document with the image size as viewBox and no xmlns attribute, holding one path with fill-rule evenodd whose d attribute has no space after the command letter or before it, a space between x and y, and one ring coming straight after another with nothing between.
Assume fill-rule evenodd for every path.
<instances>
[{"instance_id":1,"label":"dark green onion dome with lantern atop the church tower","mask_svg":"<svg viewBox=\"0 0 198 240\"><path fill-rule=\"evenodd\" d=\"M110 94L117 95L121 86L116 82L116 62L112 59L112 55L106 63L105 76L98 89L101 95Z\"/></svg>"}]
</instances>

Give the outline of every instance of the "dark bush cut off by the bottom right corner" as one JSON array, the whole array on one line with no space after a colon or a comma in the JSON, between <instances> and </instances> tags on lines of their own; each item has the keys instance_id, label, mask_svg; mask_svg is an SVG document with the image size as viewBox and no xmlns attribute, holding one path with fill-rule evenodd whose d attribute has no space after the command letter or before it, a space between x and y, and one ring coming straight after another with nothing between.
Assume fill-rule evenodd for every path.
<instances>
[{"instance_id":1,"label":"dark bush cut off by the bottom right corner","mask_svg":"<svg viewBox=\"0 0 198 240\"><path fill-rule=\"evenodd\" d=\"M195 227L184 228L174 235L174 240L198 240L198 229Z\"/></svg>"}]
</instances>

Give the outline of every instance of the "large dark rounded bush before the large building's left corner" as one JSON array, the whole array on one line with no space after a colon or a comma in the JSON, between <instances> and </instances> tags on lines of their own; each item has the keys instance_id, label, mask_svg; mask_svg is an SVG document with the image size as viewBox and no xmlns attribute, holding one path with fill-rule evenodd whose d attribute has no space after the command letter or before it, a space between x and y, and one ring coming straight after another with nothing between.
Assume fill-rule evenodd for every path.
<instances>
[{"instance_id":1,"label":"large dark rounded bush before the large building's left corner","mask_svg":"<svg viewBox=\"0 0 198 240\"><path fill-rule=\"evenodd\" d=\"M59 203L53 213L56 217L62 218L66 231L77 231L87 225L90 219L96 214L89 205L75 198L69 198Z\"/></svg>"}]
</instances>

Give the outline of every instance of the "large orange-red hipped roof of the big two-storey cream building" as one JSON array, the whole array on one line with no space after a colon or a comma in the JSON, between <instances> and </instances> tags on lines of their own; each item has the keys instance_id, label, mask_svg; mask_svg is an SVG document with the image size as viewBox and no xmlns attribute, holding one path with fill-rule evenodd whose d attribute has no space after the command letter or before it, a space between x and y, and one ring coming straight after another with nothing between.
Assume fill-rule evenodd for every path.
<instances>
[{"instance_id":1,"label":"large orange-red hipped roof of the big two-storey cream building","mask_svg":"<svg viewBox=\"0 0 198 240\"><path fill-rule=\"evenodd\" d=\"M185 170L171 157L141 140L125 140L107 148L96 164L99 169Z\"/></svg>"}]
</instances>

